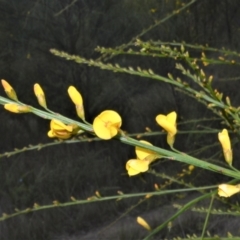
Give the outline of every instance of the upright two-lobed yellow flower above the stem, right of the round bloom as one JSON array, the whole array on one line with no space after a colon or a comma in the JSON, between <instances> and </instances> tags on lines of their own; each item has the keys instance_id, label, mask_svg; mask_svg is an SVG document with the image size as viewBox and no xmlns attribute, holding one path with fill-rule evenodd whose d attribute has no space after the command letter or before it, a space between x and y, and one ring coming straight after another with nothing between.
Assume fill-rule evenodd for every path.
<instances>
[{"instance_id":1,"label":"upright two-lobed yellow flower above the stem, right of the round bloom","mask_svg":"<svg viewBox=\"0 0 240 240\"><path fill-rule=\"evenodd\" d=\"M156 117L157 123L167 131L167 143L172 147L177 133L177 113L171 112L168 115L159 114Z\"/></svg>"}]
</instances>

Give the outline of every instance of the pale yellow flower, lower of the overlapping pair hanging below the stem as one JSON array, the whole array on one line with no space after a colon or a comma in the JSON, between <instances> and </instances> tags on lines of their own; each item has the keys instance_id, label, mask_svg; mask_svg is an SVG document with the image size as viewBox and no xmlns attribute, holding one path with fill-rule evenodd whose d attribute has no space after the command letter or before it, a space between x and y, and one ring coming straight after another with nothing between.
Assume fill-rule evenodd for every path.
<instances>
[{"instance_id":1,"label":"pale yellow flower, lower of the overlapping pair hanging below the stem","mask_svg":"<svg viewBox=\"0 0 240 240\"><path fill-rule=\"evenodd\" d=\"M126 163L126 169L128 171L128 175L134 176L141 172L146 172L149 169L149 164L151 162L148 160L140 160L140 159L130 159Z\"/></svg>"}]
</instances>

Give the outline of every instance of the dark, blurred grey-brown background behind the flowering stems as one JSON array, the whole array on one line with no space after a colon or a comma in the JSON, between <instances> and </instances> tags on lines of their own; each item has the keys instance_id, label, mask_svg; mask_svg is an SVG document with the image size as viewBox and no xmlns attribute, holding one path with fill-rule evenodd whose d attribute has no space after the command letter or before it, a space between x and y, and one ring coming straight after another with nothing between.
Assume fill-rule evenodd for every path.
<instances>
[{"instance_id":1,"label":"dark, blurred grey-brown background behind the flowering stems","mask_svg":"<svg viewBox=\"0 0 240 240\"><path fill-rule=\"evenodd\" d=\"M143 29L180 8L184 2L189 1L0 0L0 77L11 83L21 101L36 107L33 84L39 83L45 91L50 109L77 119L67 95L68 86L74 85L83 95L89 122L101 111L113 109L122 116L122 129L129 133L144 132L146 126L158 131L160 128L154 120L155 116L174 110L178 113L180 123L214 117L204 106L165 83L79 65L49 52L49 49L56 48L85 58L97 58L99 54L94 51L97 46L116 47L128 43ZM148 31L141 39L185 41L239 51L239 14L237 0L198 0L187 10ZM213 53L212 57L215 57ZM121 66L151 66L163 76L175 72L175 63L169 59L118 56L109 61ZM230 78L238 77L239 70L231 66L209 66L206 73L214 75L214 86L231 96L233 104L238 105L239 82L230 81ZM0 93L5 96L2 89ZM11 114L2 108L0 123L1 153L15 147L51 141L47 138L49 121L34 115ZM222 128L220 121L204 124ZM188 124L179 128L191 130L197 125ZM168 148L165 136L146 140ZM189 152L216 141L215 135L179 135L176 147ZM205 151L199 157L211 159L216 151L221 152L220 146ZM234 154L237 159L236 149ZM118 190L126 193L153 191L154 183L164 183L164 179L150 174L129 178L125 163L133 157L132 147L117 141L101 141L62 144L2 158L0 213L12 213L15 208L31 207L35 202L40 205L50 204L53 200L66 202L70 196L85 199L96 190L103 195L115 195ZM211 160L217 160L217 157L223 161L221 154ZM182 168L181 164L169 161L163 161L155 167L171 176ZM227 178L205 171L197 172L191 179L196 185L212 185L224 180ZM187 200L192 197L188 196ZM175 200L178 200L177 196L150 199L123 218L123 223L129 220L127 227L121 228L124 224L115 224L115 229L107 229L104 234L109 234L109 239L140 239L146 233L134 225L135 217L150 212L147 216L155 216L152 224L157 226L169 216L167 214L174 212L170 202ZM22 215L0 223L0 239L63 240L84 239L84 235L93 239L97 230L102 230L137 202L137 199L129 199L93 203ZM204 216L188 213L181 221L174 223L170 232L167 229L162 231L158 239L201 233ZM195 222L189 219L195 219ZM229 225L224 223L230 222L231 218L222 219L212 218L213 223L209 226L211 233L225 235L227 231L235 229L235 234L240 234L234 219ZM88 235L90 233L93 235Z\"/></svg>"}]
</instances>

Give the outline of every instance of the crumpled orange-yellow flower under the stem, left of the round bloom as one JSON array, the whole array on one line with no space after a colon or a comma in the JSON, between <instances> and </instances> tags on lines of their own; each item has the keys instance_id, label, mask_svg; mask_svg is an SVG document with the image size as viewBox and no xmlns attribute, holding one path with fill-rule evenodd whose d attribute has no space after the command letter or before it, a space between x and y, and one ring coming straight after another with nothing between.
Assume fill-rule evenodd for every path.
<instances>
[{"instance_id":1,"label":"crumpled orange-yellow flower under the stem, left of the round bloom","mask_svg":"<svg viewBox=\"0 0 240 240\"><path fill-rule=\"evenodd\" d=\"M72 125L65 125L57 119L52 119L50 122L50 131L48 132L48 137L68 139L72 136L73 130L74 129Z\"/></svg>"}]
</instances>

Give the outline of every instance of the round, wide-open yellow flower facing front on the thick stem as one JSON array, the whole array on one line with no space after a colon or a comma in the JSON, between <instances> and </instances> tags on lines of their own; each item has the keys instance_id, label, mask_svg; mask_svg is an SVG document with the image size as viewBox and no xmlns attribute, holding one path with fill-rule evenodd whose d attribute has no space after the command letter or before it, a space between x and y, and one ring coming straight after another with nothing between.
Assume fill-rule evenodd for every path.
<instances>
[{"instance_id":1,"label":"round, wide-open yellow flower facing front on the thick stem","mask_svg":"<svg viewBox=\"0 0 240 240\"><path fill-rule=\"evenodd\" d=\"M105 110L100 113L93 121L93 130L101 139L111 139L118 134L122 125L120 115L112 110Z\"/></svg>"}]
</instances>

